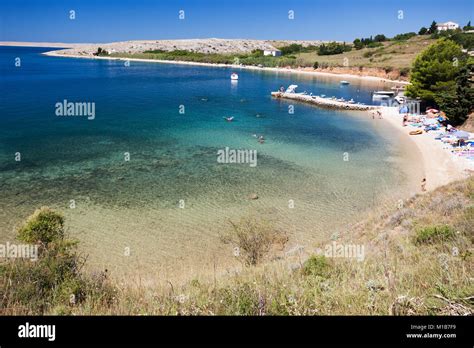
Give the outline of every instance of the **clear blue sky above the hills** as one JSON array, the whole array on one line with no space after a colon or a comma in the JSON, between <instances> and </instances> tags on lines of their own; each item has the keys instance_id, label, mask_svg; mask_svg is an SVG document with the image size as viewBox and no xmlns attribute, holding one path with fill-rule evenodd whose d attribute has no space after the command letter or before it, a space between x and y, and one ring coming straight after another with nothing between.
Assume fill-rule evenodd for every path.
<instances>
[{"instance_id":1,"label":"clear blue sky above the hills","mask_svg":"<svg viewBox=\"0 0 474 348\"><path fill-rule=\"evenodd\" d=\"M417 32L433 20L464 26L473 13L474 0L2 0L0 41L352 41Z\"/></svg>"}]
</instances>

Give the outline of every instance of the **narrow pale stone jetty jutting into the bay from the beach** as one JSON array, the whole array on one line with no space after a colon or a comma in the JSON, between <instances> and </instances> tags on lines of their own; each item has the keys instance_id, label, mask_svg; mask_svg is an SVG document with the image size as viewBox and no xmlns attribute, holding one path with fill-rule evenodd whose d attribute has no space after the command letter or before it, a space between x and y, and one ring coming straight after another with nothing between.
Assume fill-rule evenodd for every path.
<instances>
[{"instance_id":1,"label":"narrow pale stone jetty jutting into the bay from the beach","mask_svg":"<svg viewBox=\"0 0 474 348\"><path fill-rule=\"evenodd\" d=\"M308 95L304 93L295 93L295 92L272 92L272 97L281 98L281 99L292 99L300 102L314 104L321 107L326 107L330 109L341 109L341 110L374 110L380 109L378 105L365 105L357 104L354 102L348 101L339 101L333 98L323 98L314 95Z\"/></svg>"}]
</instances>

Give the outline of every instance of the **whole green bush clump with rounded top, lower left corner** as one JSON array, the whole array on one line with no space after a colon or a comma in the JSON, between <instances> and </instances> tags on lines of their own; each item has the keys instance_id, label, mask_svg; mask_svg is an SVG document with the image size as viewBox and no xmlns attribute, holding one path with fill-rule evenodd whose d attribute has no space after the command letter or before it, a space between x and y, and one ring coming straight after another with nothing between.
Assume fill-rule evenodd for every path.
<instances>
[{"instance_id":1,"label":"whole green bush clump with rounded top, lower left corner","mask_svg":"<svg viewBox=\"0 0 474 348\"><path fill-rule=\"evenodd\" d=\"M64 239L64 218L43 207L19 231L25 242L39 240L42 252L36 261L15 258L0 264L0 308L15 314L70 314L79 303L110 305L114 290L107 275L84 276L85 258L77 243Z\"/></svg>"}]
</instances>

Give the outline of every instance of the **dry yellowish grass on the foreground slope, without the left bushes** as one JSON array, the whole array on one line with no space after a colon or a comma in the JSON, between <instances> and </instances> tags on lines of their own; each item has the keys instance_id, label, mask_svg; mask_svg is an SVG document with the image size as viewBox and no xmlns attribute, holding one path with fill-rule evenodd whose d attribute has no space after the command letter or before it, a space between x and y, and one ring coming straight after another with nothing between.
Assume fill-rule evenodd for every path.
<instances>
[{"instance_id":1,"label":"dry yellowish grass on the foreground slope, without the left bushes","mask_svg":"<svg viewBox=\"0 0 474 348\"><path fill-rule=\"evenodd\" d=\"M261 262L214 282L192 280L180 287L170 283L164 288L114 285L114 301L100 305L103 302L94 297L85 298L69 306L68 313L473 314L473 200L471 177L414 196L401 209L374 213L336 241L363 245L365 258L360 262L348 257L307 255L296 264L289 258ZM454 235L417 241L421 229L445 225L455 231ZM319 247L324 249L325 244ZM22 312L22 308L8 311ZM56 310L50 308L46 313Z\"/></svg>"}]
</instances>

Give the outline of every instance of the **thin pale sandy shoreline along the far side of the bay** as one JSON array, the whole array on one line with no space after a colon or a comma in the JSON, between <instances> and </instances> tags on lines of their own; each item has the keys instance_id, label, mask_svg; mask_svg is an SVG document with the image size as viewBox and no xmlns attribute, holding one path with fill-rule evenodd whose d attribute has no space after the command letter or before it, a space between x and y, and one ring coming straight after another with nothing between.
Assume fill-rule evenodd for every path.
<instances>
[{"instance_id":1,"label":"thin pale sandy shoreline along the far side of the bay","mask_svg":"<svg viewBox=\"0 0 474 348\"><path fill-rule=\"evenodd\" d=\"M271 67L258 67L253 65L234 65L234 64L216 64L216 63L202 63L202 62L189 62L183 60L161 60L161 59L144 59L144 58L122 58L122 57L98 57L98 56L82 56L78 54L58 54L56 51L48 51L42 53L45 56L50 57L63 57L63 58L83 58L83 59L103 59L103 60L122 60L130 62L142 62L142 63L162 63L162 64L178 64L178 65L194 65L194 66L207 66L214 68L232 68L232 69L246 69L246 70L260 70L260 71L271 71L277 73L291 73L291 74L303 74L309 76L325 76L332 78L345 78L354 79L370 82L383 82L393 83L398 85L409 85L410 83L402 80L390 80L383 77L377 76L361 76L354 74L337 74L323 71L308 71L305 68L271 68Z\"/></svg>"}]
</instances>

